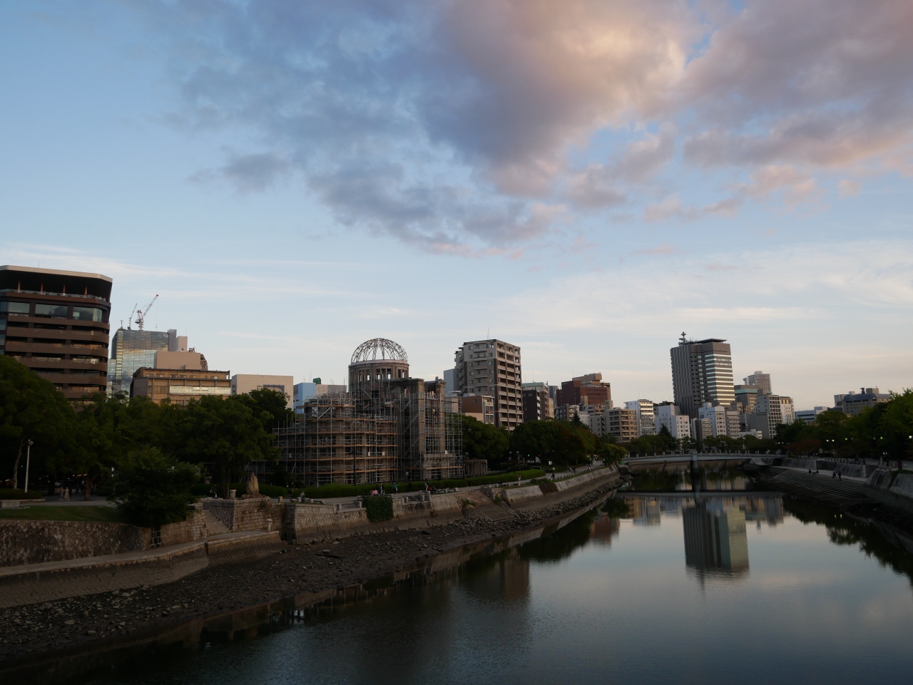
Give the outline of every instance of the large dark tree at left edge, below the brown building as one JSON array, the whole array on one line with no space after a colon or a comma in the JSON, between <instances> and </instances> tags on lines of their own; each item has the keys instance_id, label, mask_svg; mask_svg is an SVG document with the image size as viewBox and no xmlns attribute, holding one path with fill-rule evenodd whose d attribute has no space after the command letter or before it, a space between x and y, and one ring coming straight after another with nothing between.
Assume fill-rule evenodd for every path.
<instances>
[{"instance_id":1,"label":"large dark tree at left edge, below the brown building","mask_svg":"<svg viewBox=\"0 0 913 685\"><path fill-rule=\"evenodd\" d=\"M13 487L28 441L37 474L53 468L72 435L73 408L47 380L11 357L0 357L0 450Z\"/></svg>"}]
</instances>

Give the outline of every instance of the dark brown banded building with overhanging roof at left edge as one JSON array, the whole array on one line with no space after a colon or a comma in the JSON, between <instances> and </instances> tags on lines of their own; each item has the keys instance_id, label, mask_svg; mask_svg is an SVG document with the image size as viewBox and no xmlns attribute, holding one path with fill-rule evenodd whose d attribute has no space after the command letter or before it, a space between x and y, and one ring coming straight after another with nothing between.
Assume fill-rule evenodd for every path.
<instances>
[{"instance_id":1,"label":"dark brown banded building with overhanging roof at left edge","mask_svg":"<svg viewBox=\"0 0 913 685\"><path fill-rule=\"evenodd\" d=\"M0 266L0 354L18 359L68 400L108 385L111 279Z\"/></svg>"}]
</instances>

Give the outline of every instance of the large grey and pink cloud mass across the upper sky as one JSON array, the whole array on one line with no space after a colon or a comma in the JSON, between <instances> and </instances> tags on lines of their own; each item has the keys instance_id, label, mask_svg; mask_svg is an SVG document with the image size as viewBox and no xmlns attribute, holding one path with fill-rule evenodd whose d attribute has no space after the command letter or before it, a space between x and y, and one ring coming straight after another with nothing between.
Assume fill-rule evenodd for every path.
<instances>
[{"instance_id":1,"label":"large grey and pink cloud mass across the upper sky","mask_svg":"<svg viewBox=\"0 0 913 685\"><path fill-rule=\"evenodd\" d=\"M341 225L430 252L515 254L576 210L698 221L806 202L859 165L913 170L906 0L132 6L168 45L168 120L260 141L196 180L298 172ZM719 168L731 196L677 199Z\"/></svg>"}]
</instances>

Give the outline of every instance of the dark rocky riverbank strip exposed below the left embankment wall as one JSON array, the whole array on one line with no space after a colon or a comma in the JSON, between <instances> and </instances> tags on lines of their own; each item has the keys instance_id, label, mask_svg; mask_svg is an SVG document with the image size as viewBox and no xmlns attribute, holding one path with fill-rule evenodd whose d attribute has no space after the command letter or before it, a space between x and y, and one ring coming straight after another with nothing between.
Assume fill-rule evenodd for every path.
<instances>
[{"instance_id":1,"label":"dark rocky riverbank strip exposed below the left embankment wall","mask_svg":"<svg viewBox=\"0 0 913 685\"><path fill-rule=\"evenodd\" d=\"M341 537L332 542L284 544L278 554L243 564L205 568L172 583L6 609L0 615L0 674L29 681L50 660L128 641L155 642L169 626L310 593L315 601L337 588L359 586L401 572L416 561L485 540L532 529L591 504L617 488L616 480L580 492L543 498L540 508L491 521L467 507L442 525ZM70 669L79 669L75 665ZM68 671L68 677L77 672ZM58 676L59 677L59 676Z\"/></svg>"}]
</instances>

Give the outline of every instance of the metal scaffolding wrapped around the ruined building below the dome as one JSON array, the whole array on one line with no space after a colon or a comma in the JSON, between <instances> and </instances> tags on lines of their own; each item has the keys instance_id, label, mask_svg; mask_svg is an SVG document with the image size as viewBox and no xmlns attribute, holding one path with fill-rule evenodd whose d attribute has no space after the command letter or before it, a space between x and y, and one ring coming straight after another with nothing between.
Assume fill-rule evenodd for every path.
<instances>
[{"instance_id":1,"label":"metal scaffolding wrapped around the ruined building below the dome","mask_svg":"<svg viewBox=\"0 0 913 685\"><path fill-rule=\"evenodd\" d=\"M306 485L463 477L462 424L438 392L403 379L308 400L276 430L279 465Z\"/></svg>"}]
</instances>

